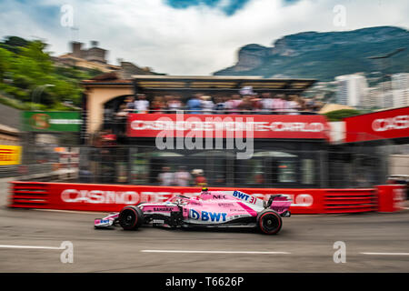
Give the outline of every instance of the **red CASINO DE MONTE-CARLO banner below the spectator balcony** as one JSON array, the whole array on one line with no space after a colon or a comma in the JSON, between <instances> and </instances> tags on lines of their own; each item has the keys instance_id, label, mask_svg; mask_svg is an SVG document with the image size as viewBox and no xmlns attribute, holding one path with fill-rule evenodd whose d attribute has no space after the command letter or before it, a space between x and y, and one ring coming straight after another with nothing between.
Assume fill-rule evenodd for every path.
<instances>
[{"instance_id":1,"label":"red CASINO DE MONTE-CARLO banner below the spectator balcony","mask_svg":"<svg viewBox=\"0 0 409 291\"><path fill-rule=\"evenodd\" d=\"M327 139L323 115L130 114L130 137L314 138Z\"/></svg>"}]
</instances>

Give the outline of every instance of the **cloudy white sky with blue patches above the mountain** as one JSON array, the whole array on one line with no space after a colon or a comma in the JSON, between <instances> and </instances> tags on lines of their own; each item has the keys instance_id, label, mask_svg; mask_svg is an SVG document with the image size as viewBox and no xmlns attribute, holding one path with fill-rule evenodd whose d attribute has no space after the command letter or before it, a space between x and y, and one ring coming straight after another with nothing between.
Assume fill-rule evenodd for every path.
<instances>
[{"instance_id":1,"label":"cloudy white sky with blue patches above the mountain","mask_svg":"<svg viewBox=\"0 0 409 291\"><path fill-rule=\"evenodd\" d=\"M78 30L67 26L66 5ZM240 46L271 46L284 35L380 25L407 29L409 1L0 0L2 37L41 38L53 55L67 53L71 40L96 40L111 64L123 58L170 75L211 75L234 65Z\"/></svg>"}]
</instances>

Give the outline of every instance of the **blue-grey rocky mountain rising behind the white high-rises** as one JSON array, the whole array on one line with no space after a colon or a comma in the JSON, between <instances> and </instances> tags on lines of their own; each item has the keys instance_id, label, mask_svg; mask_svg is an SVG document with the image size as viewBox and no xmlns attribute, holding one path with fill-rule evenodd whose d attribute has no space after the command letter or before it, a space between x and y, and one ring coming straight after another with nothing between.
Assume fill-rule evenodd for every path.
<instances>
[{"instance_id":1,"label":"blue-grey rocky mountain rising behind the white high-rises","mask_svg":"<svg viewBox=\"0 0 409 291\"><path fill-rule=\"evenodd\" d=\"M369 59L406 49L386 60ZM332 81L336 75L357 72L409 72L409 31L378 26L344 32L304 32L286 35L272 47L244 45L237 63L214 75L315 78Z\"/></svg>"}]
</instances>

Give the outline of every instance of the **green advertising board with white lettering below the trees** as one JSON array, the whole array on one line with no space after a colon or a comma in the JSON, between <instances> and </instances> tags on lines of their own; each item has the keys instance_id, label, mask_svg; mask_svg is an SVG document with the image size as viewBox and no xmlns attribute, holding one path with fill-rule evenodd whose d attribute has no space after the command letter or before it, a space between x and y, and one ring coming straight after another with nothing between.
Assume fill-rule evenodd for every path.
<instances>
[{"instance_id":1,"label":"green advertising board with white lettering below the trees","mask_svg":"<svg viewBox=\"0 0 409 291\"><path fill-rule=\"evenodd\" d=\"M79 132L81 124L81 113L78 111L23 112L23 131Z\"/></svg>"}]
</instances>

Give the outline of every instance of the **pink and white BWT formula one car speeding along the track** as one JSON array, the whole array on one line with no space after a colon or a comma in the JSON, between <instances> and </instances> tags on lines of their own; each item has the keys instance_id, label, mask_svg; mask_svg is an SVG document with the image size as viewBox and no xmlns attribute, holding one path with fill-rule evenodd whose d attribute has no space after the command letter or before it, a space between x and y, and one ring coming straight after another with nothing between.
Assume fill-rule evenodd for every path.
<instances>
[{"instance_id":1,"label":"pink and white BWT formula one car speeding along the track","mask_svg":"<svg viewBox=\"0 0 409 291\"><path fill-rule=\"evenodd\" d=\"M121 212L95 219L95 228L120 225L125 230L152 224L163 227L257 227L266 235L278 233L281 217L291 216L291 200L273 195L268 201L240 191L208 191L199 196L174 196L164 203L125 206Z\"/></svg>"}]
</instances>

